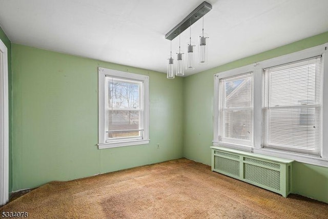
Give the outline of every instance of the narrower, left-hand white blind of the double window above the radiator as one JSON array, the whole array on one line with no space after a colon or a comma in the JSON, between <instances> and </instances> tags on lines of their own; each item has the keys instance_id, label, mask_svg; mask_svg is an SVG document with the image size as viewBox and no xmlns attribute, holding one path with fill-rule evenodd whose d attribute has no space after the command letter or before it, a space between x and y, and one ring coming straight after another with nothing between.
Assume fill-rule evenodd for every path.
<instances>
[{"instance_id":1,"label":"narrower, left-hand white blind of the double window above the radiator","mask_svg":"<svg viewBox=\"0 0 328 219\"><path fill-rule=\"evenodd\" d=\"M219 81L218 141L253 146L253 72Z\"/></svg>"}]
</instances>

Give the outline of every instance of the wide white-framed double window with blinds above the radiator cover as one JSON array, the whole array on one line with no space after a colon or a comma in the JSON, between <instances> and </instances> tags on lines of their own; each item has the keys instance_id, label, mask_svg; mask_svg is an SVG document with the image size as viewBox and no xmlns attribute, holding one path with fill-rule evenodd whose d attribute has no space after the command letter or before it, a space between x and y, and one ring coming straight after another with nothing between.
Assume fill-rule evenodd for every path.
<instances>
[{"instance_id":1,"label":"wide white-framed double window with blinds above the radiator cover","mask_svg":"<svg viewBox=\"0 0 328 219\"><path fill-rule=\"evenodd\" d=\"M213 146L328 167L327 48L215 74Z\"/></svg>"}]
</instances>

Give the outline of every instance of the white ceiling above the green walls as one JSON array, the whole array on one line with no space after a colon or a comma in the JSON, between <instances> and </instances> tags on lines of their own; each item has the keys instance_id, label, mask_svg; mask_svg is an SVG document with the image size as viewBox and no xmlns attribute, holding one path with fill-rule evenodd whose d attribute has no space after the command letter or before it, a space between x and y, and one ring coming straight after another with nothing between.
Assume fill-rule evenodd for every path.
<instances>
[{"instance_id":1,"label":"white ceiling above the green walls","mask_svg":"<svg viewBox=\"0 0 328 219\"><path fill-rule=\"evenodd\" d=\"M0 0L12 43L166 72L165 34L201 0ZM208 0L209 63L186 75L328 31L327 0ZM192 25L197 42L201 20ZM181 33L182 48L189 29ZM178 48L178 37L172 41Z\"/></svg>"}]
</instances>

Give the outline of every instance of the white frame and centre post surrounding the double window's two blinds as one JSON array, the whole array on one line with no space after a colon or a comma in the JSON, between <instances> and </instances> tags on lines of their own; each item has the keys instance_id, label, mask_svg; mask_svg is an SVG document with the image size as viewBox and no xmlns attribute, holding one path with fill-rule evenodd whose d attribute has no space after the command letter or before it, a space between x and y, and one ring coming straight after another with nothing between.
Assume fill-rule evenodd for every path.
<instances>
[{"instance_id":1,"label":"white frame and centre post surrounding the double window's two blinds","mask_svg":"<svg viewBox=\"0 0 328 219\"><path fill-rule=\"evenodd\" d=\"M283 65L286 63L292 63L301 59L315 57L322 55L322 146L321 157L299 154L288 151L274 150L268 148L262 148L262 72L263 69L272 66ZM254 147L240 147L238 145L221 145L218 142L218 106L219 106L219 79L230 77L245 72L254 72L254 135L253 142ZM292 159L301 163L313 164L317 166L328 167L328 43L305 49L302 51L294 52L287 55L282 55L276 58L271 58L265 61L261 61L252 65L243 66L240 68L232 69L229 71L217 73L214 75L214 140L213 146L223 146L235 149L241 149L245 151L251 151L259 154L272 155L282 158Z\"/></svg>"}]
</instances>

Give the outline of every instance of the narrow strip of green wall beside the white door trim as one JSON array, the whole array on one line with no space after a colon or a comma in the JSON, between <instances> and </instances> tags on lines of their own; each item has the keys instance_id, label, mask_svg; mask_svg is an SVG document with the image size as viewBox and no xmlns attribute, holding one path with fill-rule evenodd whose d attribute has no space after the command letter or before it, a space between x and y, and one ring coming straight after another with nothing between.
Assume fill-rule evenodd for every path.
<instances>
[{"instance_id":1,"label":"narrow strip of green wall beside the white door trim","mask_svg":"<svg viewBox=\"0 0 328 219\"><path fill-rule=\"evenodd\" d=\"M12 191L12 157L11 157L11 106L12 106L12 98L11 98L11 42L10 39L7 37L6 33L0 27L0 39L6 45L7 52L8 52L8 105L9 105L9 192Z\"/></svg>"}]
</instances>

